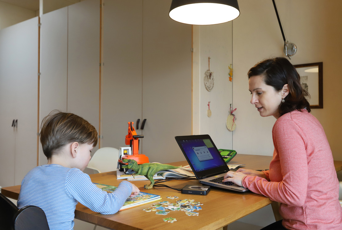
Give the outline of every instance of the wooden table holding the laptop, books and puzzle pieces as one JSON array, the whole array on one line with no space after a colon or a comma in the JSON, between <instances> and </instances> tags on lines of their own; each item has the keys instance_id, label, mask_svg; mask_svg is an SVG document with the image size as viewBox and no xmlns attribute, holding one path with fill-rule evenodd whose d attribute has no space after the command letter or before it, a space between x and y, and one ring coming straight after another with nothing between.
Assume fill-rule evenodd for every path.
<instances>
[{"instance_id":1,"label":"wooden table holding the laptop, books and puzzle pieces","mask_svg":"<svg viewBox=\"0 0 342 230\"><path fill-rule=\"evenodd\" d=\"M229 162L230 164L245 164L246 168L254 170L264 170L269 166L272 157L260 155L238 154ZM336 169L342 169L342 161L335 163ZM172 165L187 165L186 161L174 162ZM118 185L120 180L116 179L116 172L99 173L90 175L93 182ZM203 203L202 210L199 210L198 216L187 216L183 211L171 211L167 215L156 215L154 211L144 212L143 208L150 207L151 204L145 204L127 210L119 211L113 215L102 215L92 212L89 208L78 204L76 206L75 218L112 229L218 229L222 228L241 217L244 217L268 204L272 201L263 195L252 192L234 193L216 188L211 188L208 195L182 194L176 190L155 187L153 189L144 189L144 185L149 181L134 181L142 192L158 194L162 197L161 201L173 201L167 196L177 196L179 199L193 199ZM200 185L197 180L190 181L168 181L167 184L174 188L183 188L187 184ZM18 199L20 186L12 186L1 189L1 193L6 197ZM158 201L160 202L160 201ZM167 223L163 218L173 217L177 221Z\"/></svg>"}]
</instances>

